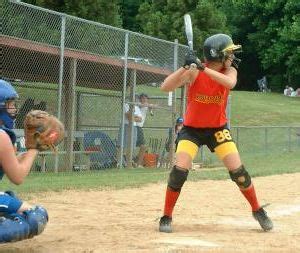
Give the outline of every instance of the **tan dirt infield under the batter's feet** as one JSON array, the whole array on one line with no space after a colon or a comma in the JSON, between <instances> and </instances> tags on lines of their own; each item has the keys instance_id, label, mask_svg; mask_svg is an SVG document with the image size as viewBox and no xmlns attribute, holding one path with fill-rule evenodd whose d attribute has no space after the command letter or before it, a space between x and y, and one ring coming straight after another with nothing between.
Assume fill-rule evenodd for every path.
<instances>
[{"instance_id":1,"label":"tan dirt infield under the batter's feet","mask_svg":"<svg viewBox=\"0 0 300 253\"><path fill-rule=\"evenodd\" d=\"M65 191L34 196L50 221L33 239L1 245L5 253L300 252L300 173L255 178L275 228L262 232L230 181L188 181L172 234L157 231L165 184L116 191Z\"/></svg>"}]
</instances>

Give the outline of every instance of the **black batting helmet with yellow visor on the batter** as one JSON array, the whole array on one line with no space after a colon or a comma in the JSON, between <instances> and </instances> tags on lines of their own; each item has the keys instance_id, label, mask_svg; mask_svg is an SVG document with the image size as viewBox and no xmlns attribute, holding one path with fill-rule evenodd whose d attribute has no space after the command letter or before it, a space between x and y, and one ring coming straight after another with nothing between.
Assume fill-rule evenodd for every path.
<instances>
[{"instance_id":1,"label":"black batting helmet with yellow visor on the batter","mask_svg":"<svg viewBox=\"0 0 300 253\"><path fill-rule=\"evenodd\" d=\"M204 41L203 54L207 61L217 61L224 63L230 59L232 65L238 67L241 60L234 54L242 51L241 45L235 45L230 36L218 33L208 37Z\"/></svg>"}]
</instances>

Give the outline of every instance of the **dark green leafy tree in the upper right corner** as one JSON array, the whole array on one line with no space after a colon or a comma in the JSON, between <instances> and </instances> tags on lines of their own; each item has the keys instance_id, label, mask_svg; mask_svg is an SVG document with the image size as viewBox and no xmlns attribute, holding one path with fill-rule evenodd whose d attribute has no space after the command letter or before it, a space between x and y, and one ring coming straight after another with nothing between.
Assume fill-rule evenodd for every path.
<instances>
[{"instance_id":1,"label":"dark green leafy tree in the upper right corner","mask_svg":"<svg viewBox=\"0 0 300 253\"><path fill-rule=\"evenodd\" d=\"M239 13L234 21L239 27L237 33L241 35L246 30L247 55L252 53L259 60L271 88L282 91L287 83L293 86L297 83L299 87L300 70L296 67L300 64L299 1L243 0L237 1L235 9Z\"/></svg>"}]
</instances>

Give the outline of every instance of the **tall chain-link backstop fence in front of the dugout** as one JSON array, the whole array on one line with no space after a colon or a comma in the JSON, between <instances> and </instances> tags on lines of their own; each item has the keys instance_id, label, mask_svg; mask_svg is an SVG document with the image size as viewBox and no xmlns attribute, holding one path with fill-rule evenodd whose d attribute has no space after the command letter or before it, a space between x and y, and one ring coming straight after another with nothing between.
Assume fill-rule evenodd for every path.
<instances>
[{"instance_id":1,"label":"tall chain-link backstop fence in front of the dugout","mask_svg":"<svg viewBox=\"0 0 300 253\"><path fill-rule=\"evenodd\" d=\"M22 105L17 128L22 129L29 110L44 109L57 115L67 130L60 155L48 167L66 171L91 157L107 159L92 153L86 157L86 149L92 148L87 143L101 146L103 138L120 149L108 150L111 155L107 156L115 160L113 166L122 167L127 149L123 143L125 104L137 102L135 95L141 92L162 97L157 87L180 64L178 56L187 47L17 1L4 1L2 20L2 77L21 80L13 82ZM180 113L167 106L167 98L160 101L159 106L170 110L156 110L156 126L168 128L173 115ZM153 126L151 120L145 124ZM101 137L87 141L91 131ZM78 133L83 134L78 137ZM129 149L134 156L135 150Z\"/></svg>"}]
</instances>

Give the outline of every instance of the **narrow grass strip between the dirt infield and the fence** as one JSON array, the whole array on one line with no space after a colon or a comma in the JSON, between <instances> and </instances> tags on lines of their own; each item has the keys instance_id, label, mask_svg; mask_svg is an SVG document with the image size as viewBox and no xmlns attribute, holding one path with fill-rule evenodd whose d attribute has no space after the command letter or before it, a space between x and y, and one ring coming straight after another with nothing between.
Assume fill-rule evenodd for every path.
<instances>
[{"instance_id":1,"label":"narrow grass strip between the dirt infield and the fence","mask_svg":"<svg viewBox=\"0 0 300 253\"><path fill-rule=\"evenodd\" d=\"M299 151L257 154L244 156L244 164L252 177L283 173L300 172L297 159ZM228 179L228 172L220 167L191 171L189 180ZM166 169L107 169L102 171L31 173L24 184L15 186L7 179L2 183L3 189L18 193L61 191L66 189L123 189L141 187L151 183L167 182L169 170Z\"/></svg>"}]
</instances>

